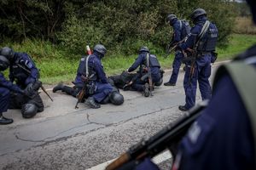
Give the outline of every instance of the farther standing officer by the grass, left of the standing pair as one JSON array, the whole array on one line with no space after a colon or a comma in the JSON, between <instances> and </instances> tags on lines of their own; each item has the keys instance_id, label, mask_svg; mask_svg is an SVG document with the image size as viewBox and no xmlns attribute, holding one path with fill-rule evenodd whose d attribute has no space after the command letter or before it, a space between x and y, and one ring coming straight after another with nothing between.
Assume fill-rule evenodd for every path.
<instances>
[{"instance_id":1,"label":"farther standing officer by the grass, left of the standing pair","mask_svg":"<svg viewBox=\"0 0 256 170\"><path fill-rule=\"evenodd\" d=\"M167 16L167 22L172 26L173 28L173 36L172 36L172 42L170 42L170 47L173 47L177 45L177 43L184 41L184 38L187 38L189 36L189 29L190 26L188 22L183 23L183 20L178 20L177 16L175 14L169 14ZM188 26L187 26L188 25ZM172 63L172 76L170 77L168 82L165 82L165 86L175 86L177 82L177 76L179 72L180 65L182 64L182 59L184 55L183 52L179 49L175 49L175 58Z\"/></svg>"}]
</instances>

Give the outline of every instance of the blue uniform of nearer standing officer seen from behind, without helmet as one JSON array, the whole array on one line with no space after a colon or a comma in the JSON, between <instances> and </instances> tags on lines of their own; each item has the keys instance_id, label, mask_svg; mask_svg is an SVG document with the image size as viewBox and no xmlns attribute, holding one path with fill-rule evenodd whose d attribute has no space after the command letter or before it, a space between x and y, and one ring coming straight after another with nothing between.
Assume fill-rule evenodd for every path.
<instances>
[{"instance_id":1,"label":"blue uniform of nearer standing officer seen from behind, without helmet","mask_svg":"<svg viewBox=\"0 0 256 170\"><path fill-rule=\"evenodd\" d=\"M206 16L199 16L196 20L195 26L191 29L191 35L189 36L188 40L180 44L179 47L183 50L186 50L187 48L193 49L195 42L197 42L199 38L198 36L201 33L201 29L206 21ZM215 50L217 37L218 29L214 24L210 23L208 31L201 38L201 42L199 42L199 46L197 48L194 72L190 71L193 61L189 60L186 62L183 87L186 94L186 104L184 107L187 110L195 105L197 81L199 82L201 98L203 100L211 99L212 90L209 77L211 76L212 52ZM190 75L191 72L193 75Z\"/></svg>"}]
</instances>

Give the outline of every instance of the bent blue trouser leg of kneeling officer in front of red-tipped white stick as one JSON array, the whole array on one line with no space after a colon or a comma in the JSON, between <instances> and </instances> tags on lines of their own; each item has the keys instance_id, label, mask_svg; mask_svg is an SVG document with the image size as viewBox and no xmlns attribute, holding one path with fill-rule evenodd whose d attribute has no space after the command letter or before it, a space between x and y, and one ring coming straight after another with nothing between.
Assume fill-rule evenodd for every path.
<instances>
[{"instance_id":1,"label":"bent blue trouser leg of kneeling officer in front of red-tipped white stick","mask_svg":"<svg viewBox=\"0 0 256 170\"><path fill-rule=\"evenodd\" d=\"M113 87L109 83L96 82L96 90L92 95L93 99L95 99L98 103L100 103L103 99L105 99L108 94L110 94L113 90Z\"/></svg>"}]
</instances>

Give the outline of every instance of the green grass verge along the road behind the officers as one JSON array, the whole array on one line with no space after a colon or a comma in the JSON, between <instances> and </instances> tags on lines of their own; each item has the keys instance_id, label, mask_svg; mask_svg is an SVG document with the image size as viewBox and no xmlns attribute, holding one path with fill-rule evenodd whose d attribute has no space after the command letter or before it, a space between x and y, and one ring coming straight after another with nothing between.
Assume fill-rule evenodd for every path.
<instances>
[{"instance_id":1,"label":"green grass verge along the road behind the officers","mask_svg":"<svg viewBox=\"0 0 256 170\"><path fill-rule=\"evenodd\" d=\"M227 48L217 48L218 60L232 59L236 54L256 43L256 35L234 34L230 37ZM71 83L79 66L80 55L68 54L60 47L50 45L49 42L26 41L23 44L5 44L16 51L25 51L31 54L41 73L41 81L44 84L55 84L57 82ZM3 45L2 45L3 46ZM158 50L160 51L160 50ZM163 69L169 69L172 65L174 54L164 58L164 52L156 54ZM125 71L137 58L137 54L125 56L122 54L106 55L102 64L108 76Z\"/></svg>"}]
</instances>

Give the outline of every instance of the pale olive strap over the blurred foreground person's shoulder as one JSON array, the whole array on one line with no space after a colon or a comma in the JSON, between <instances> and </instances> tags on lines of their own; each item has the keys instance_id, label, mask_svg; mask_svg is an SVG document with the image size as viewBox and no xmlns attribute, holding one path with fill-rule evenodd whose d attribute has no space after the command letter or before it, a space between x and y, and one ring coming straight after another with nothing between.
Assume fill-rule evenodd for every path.
<instances>
[{"instance_id":1,"label":"pale olive strap over the blurred foreground person's shoulder","mask_svg":"<svg viewBox=\"0 0 256 170\"><path fill-rule=\"evenodd\" d=\"M214 78L213 90L221 77L224 75L231 77L251 122L254 138L254 153L256 153L256 67L252 64L256 64L256 56L220 66Z\"/></svg>"}]
</instances>

